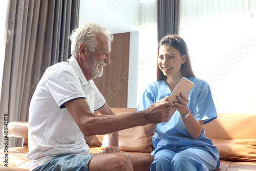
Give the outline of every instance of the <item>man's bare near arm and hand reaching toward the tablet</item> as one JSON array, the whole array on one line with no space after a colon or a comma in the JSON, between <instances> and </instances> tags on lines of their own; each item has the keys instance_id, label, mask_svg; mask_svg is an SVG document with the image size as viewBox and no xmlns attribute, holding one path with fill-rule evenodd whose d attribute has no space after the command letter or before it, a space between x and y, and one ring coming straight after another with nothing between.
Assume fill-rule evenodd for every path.
<instances>
[{"instance_id":1,"label":"man's bare near arm and hand reaching toward the tablet","mask_svg":"<svg viewBox=\"0 0 256 171\"><path fill-rule=\"evenodd\" d=\"M150 108L124 115L96 115L90 111L86 99L76 99L65 104L84 136L103 135L130 127L160 123L167 120L170 103L161 100Z\"/></svg>"}]
</instances>

